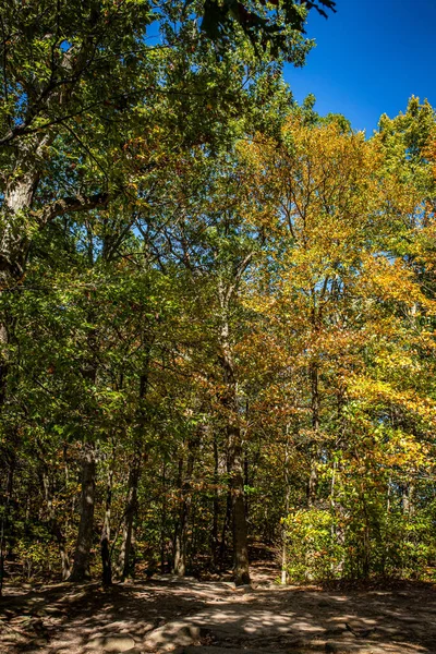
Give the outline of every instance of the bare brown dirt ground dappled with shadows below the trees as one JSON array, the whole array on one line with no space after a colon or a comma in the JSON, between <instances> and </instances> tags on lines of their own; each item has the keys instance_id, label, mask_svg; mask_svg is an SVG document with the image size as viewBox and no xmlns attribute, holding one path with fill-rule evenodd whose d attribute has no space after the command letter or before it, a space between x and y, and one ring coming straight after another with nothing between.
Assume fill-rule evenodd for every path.
<instances>
[{"instance_id":1,"label":"bare brown dirt ground dappled with shadows below the trees","mask_svg":"<svg viewBox=\"0 0 436 654\"><path fill-rule=\"evenodd\" d=\"M269 562L253 586L161 576L104 590L97 583L5 588L3 654L436 654L433 584L279 586Z\"/></svg>"}]
</instances>

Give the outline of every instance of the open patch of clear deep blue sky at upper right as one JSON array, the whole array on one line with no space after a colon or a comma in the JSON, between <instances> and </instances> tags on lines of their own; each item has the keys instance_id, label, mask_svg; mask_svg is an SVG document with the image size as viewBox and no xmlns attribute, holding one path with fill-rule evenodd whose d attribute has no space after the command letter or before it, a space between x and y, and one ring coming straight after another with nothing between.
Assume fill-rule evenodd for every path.
<instances>
[{"instance_id":1,"label":"open patch of clear deep blue sky at upper right","mask_svg":"<svg viewBox=\"0 0 436 654\"><path fill-rule=\"evenodd\" d=\"M320 114L343 113L367 135L411 95L436 107L436 0L337 0L327 21L311 12L307 36L306 65L284 71L299 102L313 93Z\"/></svg>"}]
</instances>

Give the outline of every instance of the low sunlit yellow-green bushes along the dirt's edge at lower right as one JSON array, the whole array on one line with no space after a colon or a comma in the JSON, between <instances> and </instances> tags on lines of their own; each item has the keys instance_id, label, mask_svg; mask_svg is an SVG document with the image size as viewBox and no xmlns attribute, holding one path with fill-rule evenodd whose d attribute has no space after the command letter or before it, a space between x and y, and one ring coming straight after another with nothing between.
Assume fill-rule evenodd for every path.
<instances>
[{"instance_id":1,"label":"low sunlit yellow-green bushes along the dirt's edge at lower right","mask_svg":"<svg viewBox=\"0 0 436 654\"><path fill-rule=\"evenodd\" d=\"M382 502L382 504L380 504ZM386 495L347 509L301 509L283 521L290 581L434 579L434 513L386 510ZM378 506L377 506L378 505Z\"/></svg>"}]
</instances>

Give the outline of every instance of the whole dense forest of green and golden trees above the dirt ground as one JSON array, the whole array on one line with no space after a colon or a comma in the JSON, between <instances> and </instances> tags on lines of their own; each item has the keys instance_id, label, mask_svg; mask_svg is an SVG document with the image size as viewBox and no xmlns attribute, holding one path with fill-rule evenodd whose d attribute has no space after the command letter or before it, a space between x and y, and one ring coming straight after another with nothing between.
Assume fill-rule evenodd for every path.
<instances>
[{"instance_id":1,"label":"whole dense forest of green and golden trees above the dirt ground","mask_svg":"<svg viewBox=\"0 0 436 654\"><path fill-rule=\"evenodd\" d=\"M436 113L294 100L336 4L1 0L0 594L436 582Z\"/></svg>"}]
</instances>

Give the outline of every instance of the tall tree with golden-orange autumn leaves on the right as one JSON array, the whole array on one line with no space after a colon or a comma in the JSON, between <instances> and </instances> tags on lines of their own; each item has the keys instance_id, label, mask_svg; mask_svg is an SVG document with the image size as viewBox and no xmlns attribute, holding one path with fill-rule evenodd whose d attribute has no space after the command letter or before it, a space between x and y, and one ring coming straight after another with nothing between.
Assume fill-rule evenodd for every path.
<instances>
[{"instance_id":1,"label":"tall tree with golden-orange autumn leaves on the right","mask_svg":"<svg viewBox=\"0 0 436 654\"><path fill-rule=\"evenodd\" d=\"M254 278L259 295L253 278L247 295L258 314L249 361L262 361L249 371L265 379L254 407L269 429L275 414L272 429L282 440L290 434L293 457L306 458L306 508L286 522L289 570L304 576L311 560L317 574L331 574L343 556L342 572L367 576L380 565L377 534L389 522L382 497L393 480L410 479L412 460L413 474L425 474L422 452L432 447L433 385L422 384L417 346L426 330L420 318L416 332L407 323L411 313L431 320L434 308L411 259L398 254L416 239L422 178L400 177L378 135L365 142L335 120L293 117L279 143L257 138L243 153L254 172L247 211L257 209L271 234ZM316 558L317 547L327 559Z\"/></svg>"}]
</instances>

